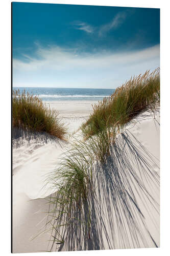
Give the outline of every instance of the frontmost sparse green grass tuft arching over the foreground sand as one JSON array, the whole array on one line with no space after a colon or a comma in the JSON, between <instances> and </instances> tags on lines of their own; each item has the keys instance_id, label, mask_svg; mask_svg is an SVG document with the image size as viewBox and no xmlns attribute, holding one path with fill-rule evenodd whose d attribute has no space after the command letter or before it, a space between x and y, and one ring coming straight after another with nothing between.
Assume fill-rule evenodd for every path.
<instances>
[{"instance_id":1,"label":"frontmost sparse green grass tuft arching over the foreground sand","mask_svg":"<svg viewBox=\"0 0 170 256\"><path fill-rule=\"evenodd\" d=\"M91 209L87 202L94 191L93 163L94 158L90 155L86 142L74 142L62 158L60 166L46 179L57 190L53 196L47 198L50 206L46 231L51 231L53 241L50 250L54 249L56 243L64 243L62 230L69 228L73 221L77 226L81 225L82 229L88 226L88 234L85 236L89 236ZM80 213L79 217L77 212Z\"/></svg>"}]
</instances>

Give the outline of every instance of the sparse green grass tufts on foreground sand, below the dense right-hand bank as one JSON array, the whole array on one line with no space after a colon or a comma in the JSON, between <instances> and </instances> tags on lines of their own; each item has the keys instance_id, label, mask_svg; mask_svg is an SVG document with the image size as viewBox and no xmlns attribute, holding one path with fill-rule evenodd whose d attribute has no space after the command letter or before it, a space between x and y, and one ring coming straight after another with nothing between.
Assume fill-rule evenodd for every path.
<instances>
[{"instance_id":1,"label":"sparse green grass tufts on foreground sand, below the dense right-hand bank","mask_svg":"<svg viewBox=\"0 0 170 256\"><path fill-rule=\"evenodd\" d=\"M62 157L60 166L46 178L57 192L48 200L48 220L46 231L51 231L51 251L57 244L64 243L62 230L72 228L74 222L82 230L85 238L90 238L91 196L95 194L93 168L95 161L104 164L110 154L110 143L114 142L113 130L105 130L84 140L83 137L70 143ZM50 228L49 228L50 225ZM65 231L64 231L65 232ZM73 232L73 231L72 231Z\"/></svg>"}]
</instances>

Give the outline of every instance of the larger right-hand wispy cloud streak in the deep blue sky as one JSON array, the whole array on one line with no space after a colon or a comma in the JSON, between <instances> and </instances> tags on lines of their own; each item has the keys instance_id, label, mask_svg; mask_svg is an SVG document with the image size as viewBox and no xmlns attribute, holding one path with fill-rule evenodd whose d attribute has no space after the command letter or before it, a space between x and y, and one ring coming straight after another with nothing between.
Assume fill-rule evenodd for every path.
<instances>
[{"instance_id":1,"label":"larger right-hand wispy cloud streak in the deep blue sky","mask_svg":"<svg viewBox=\"0 0 170 256\"><path fill-rule=\"evenodd\" d=\"M111 29L119 27L126 19L127 14L125 12L118 12L110 23L101 26L99 30L99 36L105 35Z\"/></svg>"}]
</instances>

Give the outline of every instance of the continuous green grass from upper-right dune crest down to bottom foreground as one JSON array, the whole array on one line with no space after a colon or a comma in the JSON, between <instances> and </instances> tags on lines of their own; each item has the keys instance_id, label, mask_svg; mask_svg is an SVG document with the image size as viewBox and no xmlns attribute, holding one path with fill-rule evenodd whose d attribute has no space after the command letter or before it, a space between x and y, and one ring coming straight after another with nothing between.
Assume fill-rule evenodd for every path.
<instances>
[{"instance_id":1,"label":"continuous green grass from upper-right dune crest down to bottom foreground","mask_svg":"<svg viewBox=\"0 0 170 256\"><path fill-rule=\"evenodd\" d=\"M156 69L151 74L147 71L131 78L117 88L113 95L93 106L93 113L82 125L83 139L71 144L60 167L47 178L47 182L57 190L50 197L50 220L46 223L46 226L51 225L51 250L55 243L64 243L61 230L64 226L69 227L71 220L75 220L75 212L79 212L80 216L76 225L82 222L81 228L86 230L85 237L90 237L92 209L89 205L90 196L95 191L94 163L100 161L104 166L117 133L142 111L149 108L154 111L159 104L159 98L159 69Z\"/></svg>"}]
</instances>

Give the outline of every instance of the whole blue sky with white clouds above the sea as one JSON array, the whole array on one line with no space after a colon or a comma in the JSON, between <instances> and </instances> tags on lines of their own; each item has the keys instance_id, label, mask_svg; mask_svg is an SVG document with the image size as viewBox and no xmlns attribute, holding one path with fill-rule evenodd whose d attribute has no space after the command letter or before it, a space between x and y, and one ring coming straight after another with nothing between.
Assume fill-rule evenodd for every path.
<instances>
[{"instance_id":1,"label":"whole blue sky with white clouds above the sea","mask_svg":"<svg viewBox=\"0 0 170 256\"><path fill-rule=\"evenodd\" d=\"M159 9L12 8L14 87L116 88L159 66Z\"/></svg>"}]
</instances>

